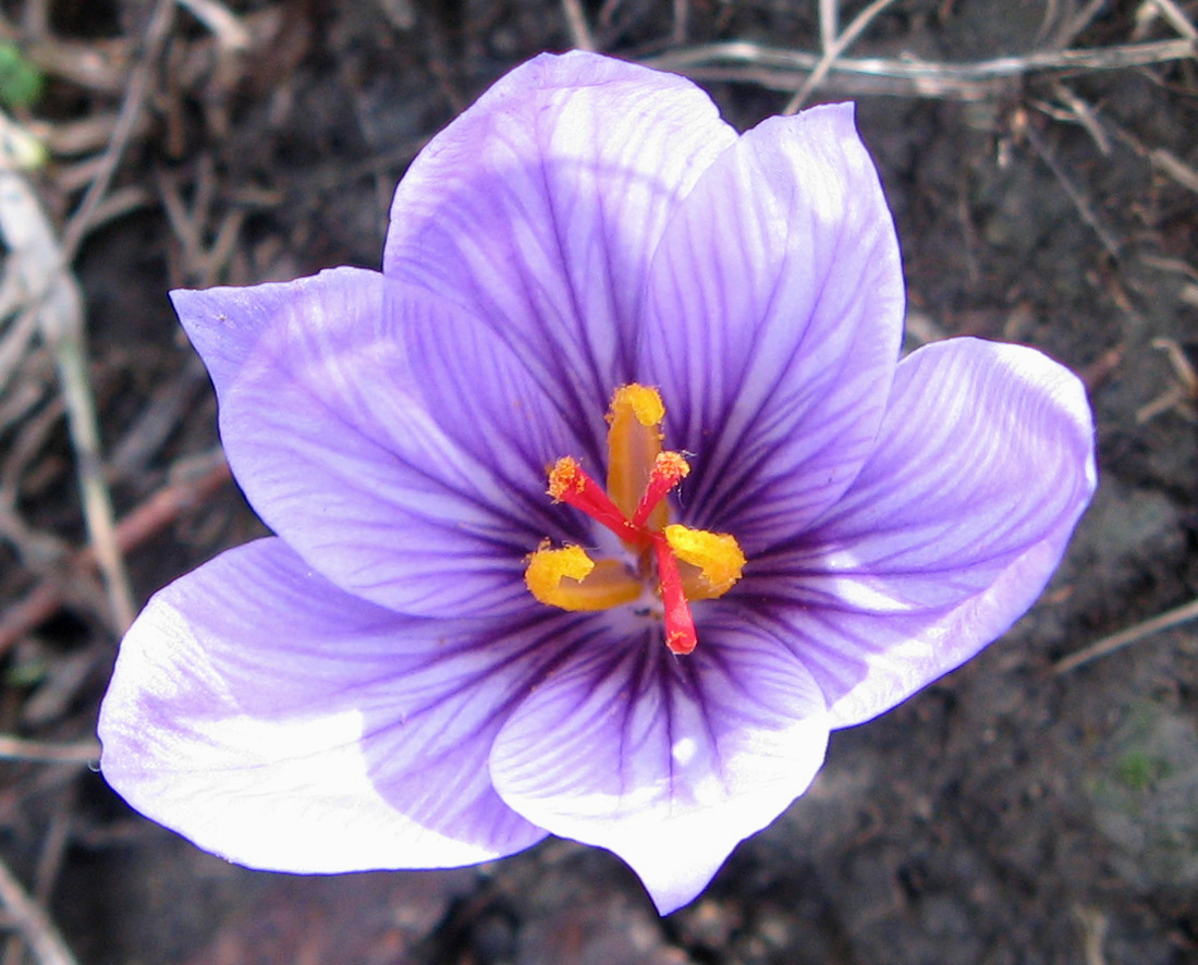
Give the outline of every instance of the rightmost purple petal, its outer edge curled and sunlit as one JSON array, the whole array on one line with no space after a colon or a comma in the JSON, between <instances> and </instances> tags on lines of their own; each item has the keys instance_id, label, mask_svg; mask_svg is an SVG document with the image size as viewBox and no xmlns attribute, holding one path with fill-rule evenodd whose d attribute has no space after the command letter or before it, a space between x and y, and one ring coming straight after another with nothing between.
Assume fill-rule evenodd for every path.
<instances>
[{"instance_id":1,"label":"rightmost purple petal, its outer edge curled and sunlit","mask_svg":"<svg viewBox=\"0 0 1198 965\"><path fill-rule=\"evenodd\" d=\"M1031 605L1095 483L1072 373L1018 345L934 343L898 366L853 487L801 545L760 560L746 592L789 628L834 725L861 723Z\"/></svg>"}]
</instances>

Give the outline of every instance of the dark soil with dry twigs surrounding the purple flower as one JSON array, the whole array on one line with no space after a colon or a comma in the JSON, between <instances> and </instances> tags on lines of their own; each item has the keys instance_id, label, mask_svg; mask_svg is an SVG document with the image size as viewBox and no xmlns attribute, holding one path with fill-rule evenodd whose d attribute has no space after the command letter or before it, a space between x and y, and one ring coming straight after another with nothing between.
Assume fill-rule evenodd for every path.
<instances>
[{"instance_id":1,"label":"dark soil with dry twigs surrounding the purple flower","mask_svg":"<svg viewBox=\"0 0 1198 965\"><path fill-rule=\"evenodd\" d=\"M1198 633L1182 620L1198 616L1198 4L871 7L810 99L859 102L898 222L910 343L1033 344L1091 392L1101 488L1031 614L834 735L811 791L666 919L619 861L562 840L454 871L229 866L140 819L89 767L121 616L85 551L69 366L22 327L38 302L8 290L10 237L2 965L1198 961ZM0 0L14 125L0 140L11 151L19 131L44 149L12 176L81 288L80 370L104 442L91 469L135 601L261 532L223 468L170 288L377 267L407 162L537 52L591 43L680 70L743 128L782 110L865 8ZM53 257L41 270L61 281Z\"/></svg>"}]
</instances>

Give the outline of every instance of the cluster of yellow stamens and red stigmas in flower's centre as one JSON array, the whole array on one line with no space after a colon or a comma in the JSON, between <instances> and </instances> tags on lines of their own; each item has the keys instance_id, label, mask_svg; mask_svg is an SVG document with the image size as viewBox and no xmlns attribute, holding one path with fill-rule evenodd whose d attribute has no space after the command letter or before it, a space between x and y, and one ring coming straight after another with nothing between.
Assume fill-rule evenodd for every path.
<instances>
[{"instance_id":1,"label":"cluster of yellow stamens and red stigmas in flower's centre","mask_svg":"<svg viewBox=\"0 0 1198 965\"><path fill-rule=\"evenodd\" d=\"M674 653L695 649L690 602L724 596L745 565L727 533L670 523L666 496L690 472L679 452L661 448L666 408L655 388L616 390L607 412L607 488L564 456L549 472L549 495L601 523L624 545L623 559L593 560L582 547L553 549L549 541L528 557L525 583L541 603L563 610L607 610L649 597Z\"/></svg>"}]
</instances>

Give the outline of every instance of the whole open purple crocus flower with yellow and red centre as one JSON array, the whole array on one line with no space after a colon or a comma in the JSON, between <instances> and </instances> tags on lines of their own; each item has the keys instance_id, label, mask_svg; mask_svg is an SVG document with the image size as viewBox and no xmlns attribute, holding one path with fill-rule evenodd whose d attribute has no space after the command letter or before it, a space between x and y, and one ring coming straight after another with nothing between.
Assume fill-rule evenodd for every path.
<instances>
[{"instance_id":1,"label":"whole open purple crocus flower with yellow and red centre","mask_svg":"<svg viewBox=\"0 0 1198 965\"><path fill-rule=\"evenodd\" d=\"M591 54L516 68L425 147L381 273L174 302L276 536L150 601L102 768L258 868L552 833L671 911L830 729L1030 605L1095 483L1043 355L898 361L851 107L738 135L690 82Z\"/></svg>"}]
</instances>

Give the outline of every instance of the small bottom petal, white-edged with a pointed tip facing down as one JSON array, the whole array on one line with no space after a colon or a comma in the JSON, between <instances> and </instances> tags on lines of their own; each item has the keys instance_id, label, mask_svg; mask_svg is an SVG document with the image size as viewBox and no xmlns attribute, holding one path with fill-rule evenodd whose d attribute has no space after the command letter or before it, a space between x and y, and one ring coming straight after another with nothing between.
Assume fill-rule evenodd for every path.
<instances>
[{"instance_id":1,"label":"small bottom petal, white-edged with a pointed tip facing down","mask_svg":"<svg viewBox=\"0 0 1198 965\"><path fill-rule=\"evenodd\" d=\"M828 738L803 665L703 605L691 656L648 633L580 651L520 705L491 755L510 807L615 851L662 913L803 794Z\"/></svg>"}]
</instances>

